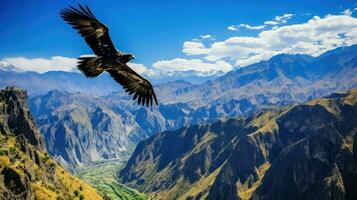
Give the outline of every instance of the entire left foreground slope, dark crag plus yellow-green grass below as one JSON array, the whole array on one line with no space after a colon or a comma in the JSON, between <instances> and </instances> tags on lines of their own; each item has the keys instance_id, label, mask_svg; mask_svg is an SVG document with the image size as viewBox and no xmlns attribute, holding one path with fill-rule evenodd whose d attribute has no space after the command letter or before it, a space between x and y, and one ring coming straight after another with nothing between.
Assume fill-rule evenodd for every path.
<instances>
[{"instance_id":1,"label":"entire left foreground slope, dark crag plus yellow-green grass below","mask_svg":"<svg viewBox=\"0 0 357 200\"><path fill-rule=\"evenodd\" d=\"M47 154L26 92L0 91L0 199L102 199Z\"/></svg>"}]
</instances>

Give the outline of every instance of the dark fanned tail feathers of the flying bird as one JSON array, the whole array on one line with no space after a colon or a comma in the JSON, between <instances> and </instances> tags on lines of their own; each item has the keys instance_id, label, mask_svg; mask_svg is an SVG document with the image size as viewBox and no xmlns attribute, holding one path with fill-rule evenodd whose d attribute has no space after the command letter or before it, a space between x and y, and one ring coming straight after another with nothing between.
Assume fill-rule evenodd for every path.
<instances>
[{"instance_id":1,"label":"dark fanned tail feathers of the flying bird","mask_svg":"<svg viewBox=\"0 0 357 200\"><path fill-rule=\"evenodd\" d=\"M99 76L103 71L101 57L86 56L79 57L78 69L81 70L87 77L94 78Z\"/></svg>"}]
</instances>

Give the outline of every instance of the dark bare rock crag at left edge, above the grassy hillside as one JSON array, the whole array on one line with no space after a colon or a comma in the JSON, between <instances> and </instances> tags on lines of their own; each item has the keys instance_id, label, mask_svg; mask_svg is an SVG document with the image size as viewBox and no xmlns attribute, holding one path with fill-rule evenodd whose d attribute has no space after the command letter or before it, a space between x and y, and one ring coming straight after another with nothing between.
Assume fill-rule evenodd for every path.
<instances>
[{"instance_id":1,"label":"dark bare rock crag at left edge, above the grassy hillside","mask_svg":"<svg viewBox=\"0 0 357 200\"><path fill-rule=\"evenodd\" d=\"M0 111L3 123L0 129L5 133L11 130L16 135L23 135L30 144L43 150L44 141L29 112L26 98L27 93L16 87L6 87L0 91L0 100L3 101Z\"/></svg>"}]
</instances>

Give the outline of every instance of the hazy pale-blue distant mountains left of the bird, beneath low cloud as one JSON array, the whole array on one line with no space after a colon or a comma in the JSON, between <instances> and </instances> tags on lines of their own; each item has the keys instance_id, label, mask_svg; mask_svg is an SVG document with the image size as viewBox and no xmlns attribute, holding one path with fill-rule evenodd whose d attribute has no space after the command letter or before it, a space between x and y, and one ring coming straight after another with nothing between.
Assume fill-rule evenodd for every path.
<instances>
[{"instance_id":1,"label":"hazy pale-blue distant mountains left of the bird, beneath low cloud","mask_svg":"<svg viewBox=\"0 0 357 200\"><path fill-rule=\"evenodd\" d=\"M76 72L50 71L40 74L19 71L15 66L8 66L7 69L0 68L0 77L0 88L14 85L26 89L31 96L45 94L51 90L92 95L107 95L121 90L108 74L88 79Z\"/></svg>"}]
</instances>

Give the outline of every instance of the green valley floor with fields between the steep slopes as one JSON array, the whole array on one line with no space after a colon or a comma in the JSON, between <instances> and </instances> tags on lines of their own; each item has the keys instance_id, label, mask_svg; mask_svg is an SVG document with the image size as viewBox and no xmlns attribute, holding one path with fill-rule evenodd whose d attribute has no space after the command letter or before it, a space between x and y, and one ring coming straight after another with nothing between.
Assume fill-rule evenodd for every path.
<instances>
[{"instance_id":1,"label":"green valley floor with fields between the steep slopes","mask_svg":"<svg viewBox=\"0 0 357 200\"><path fill-rule=\"evenodd\" d=\"M102 195L106 194L113 200L145 200L142 194L118 182L116 173L123 166L121 161L98 163L83 170L78 177L95 187Z\"/></svg>"}]
</instances>

